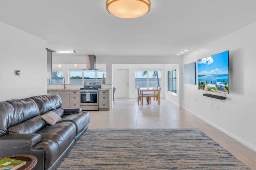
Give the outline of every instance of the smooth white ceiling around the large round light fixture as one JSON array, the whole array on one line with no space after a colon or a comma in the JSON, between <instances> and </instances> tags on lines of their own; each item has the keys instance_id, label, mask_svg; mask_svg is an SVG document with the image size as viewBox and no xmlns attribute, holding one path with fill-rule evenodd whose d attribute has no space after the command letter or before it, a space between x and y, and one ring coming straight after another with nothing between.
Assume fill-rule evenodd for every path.
<instances>
[{"instance_id":1,"label":"smooth white ceiling around the large round light fixture","mask_svg":"<svg viewBox=\"0 0 256 170\"><path fill-rule=\"evenodd\" d=\"M148 14L123 19L106 0L1 0L0 21L72 56L174 56L256 22L256 0L150 1Z\"/></svg>"}]
</instances>

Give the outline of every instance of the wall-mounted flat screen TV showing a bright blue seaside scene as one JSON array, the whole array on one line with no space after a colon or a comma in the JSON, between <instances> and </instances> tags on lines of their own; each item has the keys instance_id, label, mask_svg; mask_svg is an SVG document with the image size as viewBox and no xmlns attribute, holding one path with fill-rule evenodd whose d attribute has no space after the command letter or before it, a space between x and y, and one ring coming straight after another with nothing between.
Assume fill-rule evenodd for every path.
<instances>
[{"instance_id":1,"label":"wall-mounted flat screen TV showing a bright blue seaside scene","mask_svg":"<svg viewBox=\"0 0 256 170\"><path fill-rule=\"evenodd\" d=\"M228 94L228 51L197 61L198 89Z\"/></svg>"}]
</instances>

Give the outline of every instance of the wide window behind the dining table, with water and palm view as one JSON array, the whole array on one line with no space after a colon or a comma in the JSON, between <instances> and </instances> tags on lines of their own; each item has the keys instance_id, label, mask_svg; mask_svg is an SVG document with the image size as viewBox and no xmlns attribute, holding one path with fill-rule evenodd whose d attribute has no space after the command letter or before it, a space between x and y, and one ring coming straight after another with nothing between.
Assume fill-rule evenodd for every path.
<instances>
[{"instance_id":1,"label":"wide window behind the dining table, with water and palm view","mask_svg":"<svg viewBox=\"0 0 256 170\"><path fill-rule=\"evenodd\" d=\"M138 86L161 87L161 71L135 71L135 90Z\"/></svg>"}]
</instances>

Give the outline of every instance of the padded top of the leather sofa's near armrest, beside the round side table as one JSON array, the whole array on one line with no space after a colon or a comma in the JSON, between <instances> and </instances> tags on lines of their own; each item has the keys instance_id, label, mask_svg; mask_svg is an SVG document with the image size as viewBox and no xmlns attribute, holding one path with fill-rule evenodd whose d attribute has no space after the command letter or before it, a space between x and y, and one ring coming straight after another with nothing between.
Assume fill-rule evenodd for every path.
<instances>
[{"instance_id":1,"label":"padded top of the leather sofa's near armrest, beside the round side table","mask_svg":"<svg viewBox=\"0 0 256 170\"><path fill-rule=\"evenodd\" d=\"M36 133L30 134L8 134L0 137L0 149L15 149L30 145L34 147L41 141L41 135Z\"/></svg>"}]
</instances>

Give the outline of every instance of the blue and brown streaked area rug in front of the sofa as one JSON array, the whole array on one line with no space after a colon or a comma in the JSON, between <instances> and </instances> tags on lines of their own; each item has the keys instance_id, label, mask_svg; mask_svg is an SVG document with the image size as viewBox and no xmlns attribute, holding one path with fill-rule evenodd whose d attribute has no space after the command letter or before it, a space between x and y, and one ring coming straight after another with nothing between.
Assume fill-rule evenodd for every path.
<instances>
[{"instance_id":1,"label":"blue and brown streaked area rug in front of the sofa","mask_svg":"<svg viewBox=\"0 0 256 170\"><path fill-rule=\"evenodd\" d=\"M57 170L248 168L199 129L88 129Z\"/></svg>"}]
</instances>

